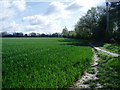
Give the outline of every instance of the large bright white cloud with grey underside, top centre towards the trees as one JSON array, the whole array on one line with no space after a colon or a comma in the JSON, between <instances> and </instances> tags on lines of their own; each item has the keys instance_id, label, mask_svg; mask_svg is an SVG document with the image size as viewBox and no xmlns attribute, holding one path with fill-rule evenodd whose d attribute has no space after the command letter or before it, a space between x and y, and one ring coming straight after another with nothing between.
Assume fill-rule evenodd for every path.
<instances>
[{"instance_id":1,"label":"large bright white cloud with grey underside, top centre towards the trees","mask_svg":"<svg viewBox=\"0 0 120 90\"><path fill-rule=\"evenodd\" d=\"M69 1L71 0L67 0L67 2ZM105 2L105 0L72 0L69 4L55 1L50 3L44 15L51 15L56 19L69 19L71 18L71 14L76 12L84 14L91 7L96 7L103 2Z\"/></svg>"}]
</instances>

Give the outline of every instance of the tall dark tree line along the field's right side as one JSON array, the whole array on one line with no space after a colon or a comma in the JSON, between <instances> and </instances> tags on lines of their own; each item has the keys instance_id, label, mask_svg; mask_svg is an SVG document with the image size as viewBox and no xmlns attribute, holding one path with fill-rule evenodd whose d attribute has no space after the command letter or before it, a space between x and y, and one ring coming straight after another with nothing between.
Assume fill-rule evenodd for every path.
<instances>
[{"instance_id":1,"label":"tall dark tree line along the field's right side","mask_svg":"<svg viewBox=\"0 0 120 90\"><path fill-rule=\"evenodd\" d=\"M108 14L109 29L106 29ZM63 36L120 44L120 6L110 7L108 14L105 7L92 7L78 20L74 31L65 27Z\"/></svg>"}]
</instances>

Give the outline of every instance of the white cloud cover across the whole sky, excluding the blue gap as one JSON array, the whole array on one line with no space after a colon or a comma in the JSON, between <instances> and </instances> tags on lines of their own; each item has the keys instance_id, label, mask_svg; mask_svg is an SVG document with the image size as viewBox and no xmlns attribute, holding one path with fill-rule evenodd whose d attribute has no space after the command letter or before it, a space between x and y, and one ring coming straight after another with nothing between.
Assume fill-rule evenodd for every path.
<instances>
[{"instance_id":1,"label":"white cloud cover across the whole sky, excluding the blue gap","mask_svg":"<svg viewBox=\"0 0 120 90\"><path fill-rule=\"evenodd\" d=\"M61 32L66 25L68 25L68 29L71 30L78 20L78 18L76 18L75 20L73 19L72 22L69 22L71 18L74 18L74 14L77 14L80 17L81 14L87 12L88 9L103 3L103 1L104 0L65 0L65 2L69 3L53 1L50 3L45 13L36 14L33 16L25 16L22 19L23 24L18 24L14 21L15 16L18 12L21 12L21 14L25 12L27 7L26 1L1 0L0 27L1 30L4 31L22 31L25 33ZM25 22L27 22L27 24L25 24Z\"/></svg>"}]
</instances>

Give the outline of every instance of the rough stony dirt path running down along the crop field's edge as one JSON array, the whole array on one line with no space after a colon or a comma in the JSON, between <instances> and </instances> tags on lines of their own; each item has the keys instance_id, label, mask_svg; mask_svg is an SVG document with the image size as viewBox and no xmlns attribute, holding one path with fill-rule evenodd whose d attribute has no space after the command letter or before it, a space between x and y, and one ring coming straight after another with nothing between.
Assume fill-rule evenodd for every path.
<instances>
[{"instance_id":1,"label":"rough stony dirt path running down along the crop field's edge","mask_svg":"<svg viewBox=\"0 0 120 90\"><path fill-rule=\"evenodd\" d=\"M94 57L93 57L94 61L93 61L92 65L91 65L91 69L94 69L95 73L90 74L88 72L85 72L85 74L76 82L76 84L74 85L74 88L90 88L90 85L85 84L85 82L88 81L88 80L96 80L96 79L98 79L96 77L96 75L98 73L98 70L97 70L98 62L97 61L99 60L99 58L98 58L95 50L94 49L92 49L92 50L94 52ZM101 88L101 85L99 83L97 84L97 88Z\"/></svg>"}]
</instances>

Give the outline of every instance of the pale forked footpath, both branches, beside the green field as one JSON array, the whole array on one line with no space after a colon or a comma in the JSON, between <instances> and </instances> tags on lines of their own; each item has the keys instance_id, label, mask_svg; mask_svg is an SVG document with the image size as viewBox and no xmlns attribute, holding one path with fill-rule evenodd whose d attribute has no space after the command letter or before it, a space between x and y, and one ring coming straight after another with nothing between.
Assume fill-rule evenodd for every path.
<instances>
[{"instance_id":1,"label":"pale forked footpath, both branches, beside the green field","mask_svg":"<svg viewBox=\"0 0 120 90\"><path fill-rule=\"evenodd\" d=\"M89 43L89 45L92 47L92 51L94 53L93 56L93 63L91 64L91 69L94 69L95 73L91 74L88 73L87 71L85 71L84 75L78 79L78 81L75 83L74 87L72 88L90 88L90 85L85 83L88 80L97 80L97 73L99 72L97 67L98 67L98 60L99 57L97 55L97 51L100 51L101 53L105 53L111 57L120 57L120 54L117 53L112 53L103 49L100 49L99 47L95 47L94 45L92 45L91 43ZM102 85L99 83L96 83L96 88L102 88Z\"/></svg>"}]
</instances>

